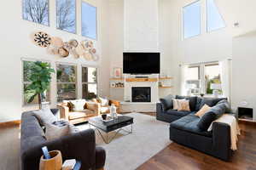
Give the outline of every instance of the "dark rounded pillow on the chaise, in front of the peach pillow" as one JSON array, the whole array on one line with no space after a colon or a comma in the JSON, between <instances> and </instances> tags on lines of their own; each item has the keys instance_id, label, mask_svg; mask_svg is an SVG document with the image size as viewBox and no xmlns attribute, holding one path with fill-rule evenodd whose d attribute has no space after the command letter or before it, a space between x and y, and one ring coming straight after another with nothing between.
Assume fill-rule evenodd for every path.
<instances>
[{"instance_id":1,"label":"dark rounded pillow on the chaise, in front of the peach pillow","mask_svg":"<svg viewBox=\"0 0 256 170\"><path fill-rule=\"evenodd\" d=\"M197 123L197 127L199 127L202 131L207 131L208 127L212 124L213 121L217 119L217 116L212 111L207 111L204 116L201 117L200 121Z\"/></svg>"}]
</instances>

